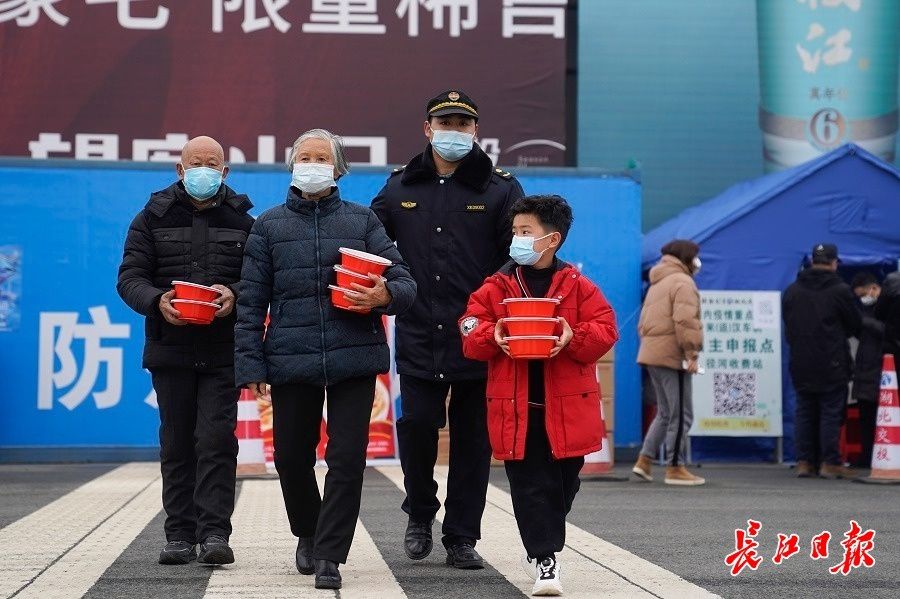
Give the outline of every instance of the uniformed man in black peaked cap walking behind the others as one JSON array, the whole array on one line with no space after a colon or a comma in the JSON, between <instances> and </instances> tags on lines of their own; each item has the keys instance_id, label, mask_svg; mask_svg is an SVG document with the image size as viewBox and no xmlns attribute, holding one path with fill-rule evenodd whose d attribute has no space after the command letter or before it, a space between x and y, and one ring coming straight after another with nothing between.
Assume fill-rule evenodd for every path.
<instances>
[{"instance_id":1,"label":"uniformed man in black peaked cap walking behind the others","mask_svg":"<svg viewBox=\"0 0 900 599\"><path fill-rule=\"evenodd\" d=\"M425 116L425 151L396 169L372 201L418 285L413 307L397 317L397 437L403 511L409 514L404 546L414 560L431 553L431 527L441 505L434 481L438 430L449 412L443 543L448 564L479 569L484 565L475 543L490 469L487 371L463 357L456 323L469 294L509 259L508 212L524 194L474 143L478 106L472 98L446 91L428 102Z\"/></svg>"}]
</instances>

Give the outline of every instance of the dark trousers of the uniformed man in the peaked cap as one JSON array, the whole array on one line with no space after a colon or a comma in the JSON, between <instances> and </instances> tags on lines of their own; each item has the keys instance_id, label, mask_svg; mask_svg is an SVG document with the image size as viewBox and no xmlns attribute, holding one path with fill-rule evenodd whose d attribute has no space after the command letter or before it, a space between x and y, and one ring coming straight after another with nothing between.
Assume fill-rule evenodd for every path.
<instances>
[{"instance_id":1,"label":"dark trousers of the uniformed man in the peaked cap","mask_svg":"<svg viewBox=\"0 0 900 599\"><path fill-rule=\"evenodd\" d=\"M442 528L445 547L460 542L474 544L481 538L491 468L486 385L483 379L435 383L400 377L402 415L397 421L397 443L406 487L402 509L416 522L430 521L441 507L434 464L438 430L448 416L450 419L450 468Z\"/></svg>"}]
</instances>

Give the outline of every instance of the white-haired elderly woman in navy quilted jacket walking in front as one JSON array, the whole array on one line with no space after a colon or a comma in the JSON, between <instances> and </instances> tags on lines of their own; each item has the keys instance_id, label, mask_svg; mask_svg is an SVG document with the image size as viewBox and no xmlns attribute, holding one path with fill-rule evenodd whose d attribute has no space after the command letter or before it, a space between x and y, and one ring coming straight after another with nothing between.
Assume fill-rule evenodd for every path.
<instances>
[{"instance_id":1,"label":"white-haired elderly woman in navy quilted jacket walking in front","mask_svg":"<svg viewBox=\"0 0 900 599\"><path fill-rule=\"evenodd\" d=\"M416 284L378 217L341 199L337 180L349 168L339 137L307 131L294 143L288 167L285 203L260 215L247 239L235 376L257 396L271 385L275 467L299 538L297 570L315 573L316 588L335 589L359 515L375 380L390 367L381 316L409 308ZM351 310L332 305L329 291L340 247L392 263L383 278L370 275L374 287L353 284L345 294ZM322 499L313 468L326 391Z\"/></svg>"}]
</instances>

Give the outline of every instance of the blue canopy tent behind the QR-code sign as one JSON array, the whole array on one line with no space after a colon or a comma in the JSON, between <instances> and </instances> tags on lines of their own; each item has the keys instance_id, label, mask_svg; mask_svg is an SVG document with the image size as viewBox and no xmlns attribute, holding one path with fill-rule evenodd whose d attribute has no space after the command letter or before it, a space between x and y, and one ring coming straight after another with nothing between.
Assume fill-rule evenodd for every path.
<instances>
[{"instance_id":1,"label":"blue canopy tent behind the QR-code sign","mask_svg":"<svg viewBox=\"0 0 900 599\"><path fill-rule=\"evenodd\" d=\"M739 183L647 233L643 270L676 238L701 246L701 289L784 290L819 242L837 244L844 266L895 270L900 170L847 144L792 169ZM792 459L794 391L788 352L783 355L784 449L786 459ZM773 447L771 439L693 441L694 456L707 459L767 459Z\"/></svg>"}]
</instances>

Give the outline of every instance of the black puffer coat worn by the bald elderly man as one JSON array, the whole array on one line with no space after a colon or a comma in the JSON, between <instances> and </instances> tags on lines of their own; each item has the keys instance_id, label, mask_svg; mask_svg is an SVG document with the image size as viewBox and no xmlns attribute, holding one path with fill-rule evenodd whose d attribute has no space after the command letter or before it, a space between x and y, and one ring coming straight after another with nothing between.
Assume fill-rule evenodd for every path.
<instances>
[{"instance_id":1,"label":"black puffer coat worn by the bald elderly man","mask_svg":"<svg viewBox=\"0 0 900 599\"><path fill-rule=\"evenodd\" d=\"M197 210L178 182L152 194L128 229L116 289L146 317L144 368L203 369L234 360L234 312L209 326L171 325L159 312L159 298L173 280L226 285L239 296L253 204L227 185L209 202Z\"/></svg>"}]
</instances>

